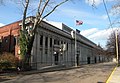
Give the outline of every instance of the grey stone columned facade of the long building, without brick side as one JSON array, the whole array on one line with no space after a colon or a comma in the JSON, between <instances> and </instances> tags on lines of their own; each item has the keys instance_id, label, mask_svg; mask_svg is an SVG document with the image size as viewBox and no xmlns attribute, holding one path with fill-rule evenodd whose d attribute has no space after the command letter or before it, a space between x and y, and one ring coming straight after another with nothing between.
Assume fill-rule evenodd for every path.
<instances>
[{"instance_id":1,"label":"grey stone columned facade of the long building, without brick side","mask_svg":"<svg viewBox=\"0 0 120 83\"><path fill-rule=\"evenodd\" d=\"M75 31L63 23L43 21L35 35L32 67L74 66L75 63L91 64L105 60L104 55L99 53L101 48L78 32L76 41L75 56Z\"/></svg>"}]
</instances>

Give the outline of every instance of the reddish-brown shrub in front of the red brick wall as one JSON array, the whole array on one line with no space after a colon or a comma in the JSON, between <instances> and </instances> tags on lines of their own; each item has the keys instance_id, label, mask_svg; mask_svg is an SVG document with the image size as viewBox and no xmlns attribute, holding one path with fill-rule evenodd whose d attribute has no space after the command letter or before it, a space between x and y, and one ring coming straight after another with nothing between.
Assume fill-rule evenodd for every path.
<instances>
[{"instance_id":1,"label":"reddish-brown shrub in front of the red brick wall","mask_svg":"<svg viewBox=\"0 0 120 83\"><path fill-rule=\"evenodd\" d=\"M17 58L11 53L3 53L0 55L0 69L9 69L16 68L17 66Z\"/></svg>"}]
</instances>

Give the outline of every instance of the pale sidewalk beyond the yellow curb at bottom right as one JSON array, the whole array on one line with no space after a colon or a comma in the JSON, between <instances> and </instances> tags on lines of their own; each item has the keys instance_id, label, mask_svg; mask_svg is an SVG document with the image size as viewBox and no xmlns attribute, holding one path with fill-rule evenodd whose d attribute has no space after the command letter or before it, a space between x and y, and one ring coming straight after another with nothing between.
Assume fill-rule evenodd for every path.
<instances>
[{"instance_id":1,"label":"pale sidewalk beyond the yellow curb at bottom right","mask_svg":"<svg viewBox=\"0 0 120 83\"><path fill-rule=\"evenodd\" d=\"M106 83L120 83L120 66L116 66Z\"/></svg>"}]
</instances>

